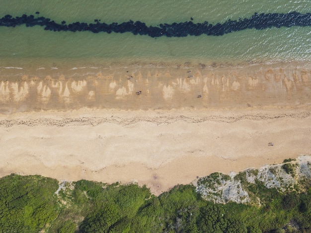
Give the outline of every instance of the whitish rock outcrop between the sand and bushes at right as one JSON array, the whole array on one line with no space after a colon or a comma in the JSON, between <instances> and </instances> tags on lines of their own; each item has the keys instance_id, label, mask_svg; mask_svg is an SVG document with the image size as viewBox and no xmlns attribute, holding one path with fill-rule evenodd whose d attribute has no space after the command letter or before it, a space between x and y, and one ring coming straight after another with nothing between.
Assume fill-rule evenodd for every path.
<instances>
[{"instance_id":1,"label":"whitish rock outcrop between the sand and bushes at right","mask_svg":"<svg viewBox=\"0 0 311 233\"><path fill-rule=\"evenodd\" d=\"M311 155L300 155L281 164L264 165L259 169L249 168L230 175L213 173L198 180L196 191L206 200L215 203L259 203L258 197L248 190L251 185L264 184L266 188L276 188L287 192L299 188L311 178ZM252 198L250 198L252 197Z\"/></svg>"}]
</instances>

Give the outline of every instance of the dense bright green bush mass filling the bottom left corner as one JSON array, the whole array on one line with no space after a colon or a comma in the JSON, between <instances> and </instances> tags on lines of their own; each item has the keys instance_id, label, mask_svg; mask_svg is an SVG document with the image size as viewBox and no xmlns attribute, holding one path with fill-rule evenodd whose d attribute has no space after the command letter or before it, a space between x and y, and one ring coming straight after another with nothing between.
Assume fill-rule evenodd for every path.
<instances>
[{"instance_id":1,"label":"dense bright green bush mass filling the bottom left corner","mask_svg":"<svg viewBox=\"0 0 311 233\"><path fill-rule=\"evenodd\" d=\"M58 215L55 179L11 174L0 179L0 232L39 232Z\"/></svg>"}]
</instances>

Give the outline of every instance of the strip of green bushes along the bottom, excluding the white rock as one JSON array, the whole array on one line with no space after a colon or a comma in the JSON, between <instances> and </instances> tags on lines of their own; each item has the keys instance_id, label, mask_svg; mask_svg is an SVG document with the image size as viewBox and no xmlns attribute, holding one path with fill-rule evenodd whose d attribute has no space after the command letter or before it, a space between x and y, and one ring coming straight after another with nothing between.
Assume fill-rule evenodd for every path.
<instances>
[{"instance_id":1,"label":"strip of green bushes along the bottom, excluding the white rock","mask_svg":"<svg viewBox=\"0 0 311 233\"><path fill-rule=\"evenodd\" d=\"M213 174L215 182L224 176ZM239 178L245 179L245 172ZM212 182L211 180L204 180ZM246 185L246 182L242 182ZM311 232L311 188L281 193L262 182L246 188L260 206L205 201L192 185L156 197L136 184L64 183L12 174L0 179L0 233Z\"/></svg>"}]
</instances>

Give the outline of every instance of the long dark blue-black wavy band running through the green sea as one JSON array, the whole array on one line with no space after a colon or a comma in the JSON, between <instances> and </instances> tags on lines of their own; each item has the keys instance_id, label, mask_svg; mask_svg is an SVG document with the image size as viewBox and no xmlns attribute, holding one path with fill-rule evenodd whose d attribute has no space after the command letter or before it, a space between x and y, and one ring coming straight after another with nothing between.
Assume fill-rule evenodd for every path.
<instances>
[{"instance_id":1,"label":"long dark blue-black wavy band running through the green sea","mask_svg":"<svg viewBox=\"0 0 311 233\"><path fill-rule=\"evenodd\" d=\"M36 12L39 14L39 12ZM191 20L193 20L191 18ZM292 27L292 26L311 26L311 13L299 13L296 11L289 13L254 13L250 18L239 18L224 23L209 24L207 21L203 23L193 23L192 21L159 24L158 26L147 26L144 22L128 21L123 23L101 23L95 19L95 23L74 22L66 24L62 21L61 24L51 21L50 18L35 17L34 15L23 14L21 17L12 17L7 14L0 19L0 26L15 27L25 24L27 27L42 26L44 30L50 31L90 31L93 33L99 32L116 32L125 33L131 32L134 35L148 35L151 37L185 37L200 36L202 34L221 36L227 33L241 31L245 29L262 30L271 27Z\"/></svg>"}]
</instances>

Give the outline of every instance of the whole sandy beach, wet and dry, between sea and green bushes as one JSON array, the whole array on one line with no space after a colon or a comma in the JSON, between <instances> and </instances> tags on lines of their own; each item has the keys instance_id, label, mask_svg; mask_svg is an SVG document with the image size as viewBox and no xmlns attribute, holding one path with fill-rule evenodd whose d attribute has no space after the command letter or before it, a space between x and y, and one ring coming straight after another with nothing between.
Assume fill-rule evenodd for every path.
<instances>
[{"instance_id":1,"label":"whole sandy beach, wet and dry, between sea and green bushes","mask_svg":"<svg viewBox=\"0 0 311 233\"><path fill-rule=\"evenodd\" d=\"M160 194L311 153L308 64L44 72L0 78L0 176L138 182Z\"/></svg>"}]
</instances>

